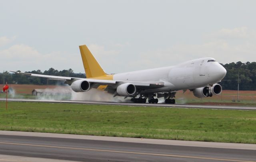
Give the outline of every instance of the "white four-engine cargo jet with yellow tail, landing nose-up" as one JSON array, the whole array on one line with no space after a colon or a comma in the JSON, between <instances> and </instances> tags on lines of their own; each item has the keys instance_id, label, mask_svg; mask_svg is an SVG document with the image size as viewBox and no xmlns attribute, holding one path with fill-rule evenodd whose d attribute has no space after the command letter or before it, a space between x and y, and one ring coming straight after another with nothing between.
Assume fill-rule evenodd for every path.
<instances>
[{"instance_id":1,"label":"white four-engine cargo jet with yellow tail, landing nose-up","mask_svg":"<svg viewBox=\"0 0 256 162\"><path fill-rule=\"evenodd\" d=\"M113 97L131 97L131 101L136 103L146 103L147 99L149 103L158 103L157 98L162 97L165 103L175 103L175 94L179 90L190 90L198 98L212 97L222 92L222 87L217 83L226 75L226 69L210 57L162 68L106 74L86 45L79 48L86 78L15 73L63 80L78 93L99 88L113 94Z\"/></svg>"}]
</instances>

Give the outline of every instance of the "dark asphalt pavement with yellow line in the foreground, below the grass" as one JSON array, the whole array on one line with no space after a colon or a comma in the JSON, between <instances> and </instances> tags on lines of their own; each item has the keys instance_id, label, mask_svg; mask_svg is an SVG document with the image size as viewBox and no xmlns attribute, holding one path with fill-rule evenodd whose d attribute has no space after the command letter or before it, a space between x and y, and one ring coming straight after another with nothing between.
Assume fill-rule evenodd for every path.
<instances>
[{"instance_id":1,"label":"dark asphalt pavement with yellow line in the foreground, below the grass","mask_svg":"<svg viewBox=\"0 0 256 162\"><path fill-rule=\"evenodd\" d=\"M122 137L110 137L111 140L103 140L106 137L99 136L94 138L90 139L90 136L82 135L0 131L0 161L1 154L88 162L256 161L255 144L227 144L229 148L222 148L226 143L217 143L218 147L210 147L213 142L198 142L198 146L193 146L190 143L192 141L187 141L188 146L186 146L185 143L185 145L179 145L179 141L172 145L170 142L152 144L147 139L136 139L140 142L136 140L122 142ZM124 141L127 139L133 140L124 138ZM194 141L194 144L196 143Z\"/></svg>"}]
</instances>

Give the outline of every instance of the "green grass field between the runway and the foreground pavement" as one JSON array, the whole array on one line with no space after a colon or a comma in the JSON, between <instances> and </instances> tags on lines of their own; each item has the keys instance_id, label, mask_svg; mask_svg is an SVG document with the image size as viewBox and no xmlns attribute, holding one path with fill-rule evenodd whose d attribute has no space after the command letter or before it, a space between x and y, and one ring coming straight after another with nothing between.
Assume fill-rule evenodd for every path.
<instances>
[{"instance_id":1,"label":"green grass field between the runway and the foreground pavement","mask_svg":"<svg viewBox=\"0 0 256 162\"><path fill-rule=\"evenodd\" d=\"M256 111L0 102L0 130L256 144Z\"/></svg>"}]
</instances>

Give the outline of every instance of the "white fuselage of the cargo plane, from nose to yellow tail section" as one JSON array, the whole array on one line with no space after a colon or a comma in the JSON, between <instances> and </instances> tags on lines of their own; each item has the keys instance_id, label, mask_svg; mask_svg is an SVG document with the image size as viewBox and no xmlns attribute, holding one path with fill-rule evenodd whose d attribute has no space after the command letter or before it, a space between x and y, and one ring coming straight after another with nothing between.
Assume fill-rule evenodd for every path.
<instances>
[{"instance_id":1,"label":"white fuselage of the cargo plane, from nose to yellow tail section","mask_svg":"<svg viewBox=\"0 0 256 162\"><path fill-rule=\"evenodd\" d=\"M164 82L164 87L145 90L144 93L171 92L194 89L220 82L226 69L218 62L208 62L213 58L201 58L180 63L175 66L154 68L114 74L113 80L133 82Z\"/></svg>"}]
</instances>

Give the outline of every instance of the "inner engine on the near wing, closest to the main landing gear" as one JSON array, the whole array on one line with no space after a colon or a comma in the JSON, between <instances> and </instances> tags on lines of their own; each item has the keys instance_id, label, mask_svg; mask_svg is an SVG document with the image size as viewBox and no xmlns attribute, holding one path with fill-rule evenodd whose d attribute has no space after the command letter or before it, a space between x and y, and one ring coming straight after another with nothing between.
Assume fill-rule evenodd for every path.
<instances>
[{"instance_id":1,"label":"inner engine on the near wing, closest to the main landing gear","mask_svg":"<svg viewBox=\"0 0 256 162\"><path fill-rule=\"evenodd\" d=\"M136 87L134 84L124 83L116 88L116 92L120 96L132 96L136 93Z\"/></svg>"}]
</instances>

